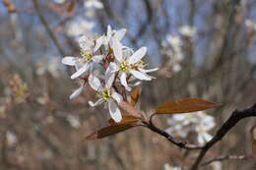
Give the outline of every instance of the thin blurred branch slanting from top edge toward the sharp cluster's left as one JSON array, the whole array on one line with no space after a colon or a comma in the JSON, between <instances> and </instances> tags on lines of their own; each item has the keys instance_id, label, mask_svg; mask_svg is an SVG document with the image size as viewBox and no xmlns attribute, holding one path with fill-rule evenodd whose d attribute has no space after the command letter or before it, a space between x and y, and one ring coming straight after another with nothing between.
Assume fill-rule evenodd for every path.
<instances>
[{"instance_id":1,"label":"thin blurred branch slanting from top edge toward the sharp cluster's left","mask_svg":"<svg viewBox=\"0 0 256 170\"><path fill-rule=\"evenodd\" d=\"M55 36L55 34L53 33L53 31L49 28L49 25L47 23L47 21L45 20L45 18L43 17L40 9L39 9L39 5L38 5L38 1L37 0L32 0L32 4L34 7L34 10L42 24L42 26L45 28L47 34L49 35L49 37L51 38L51 40L53 41L53 43L55 44L55 46L57 47L60 55L62 57L65 56L65 52L64 50L61 48L60 42L58 41L57 37Z\"/></svg>"}]
</instances>

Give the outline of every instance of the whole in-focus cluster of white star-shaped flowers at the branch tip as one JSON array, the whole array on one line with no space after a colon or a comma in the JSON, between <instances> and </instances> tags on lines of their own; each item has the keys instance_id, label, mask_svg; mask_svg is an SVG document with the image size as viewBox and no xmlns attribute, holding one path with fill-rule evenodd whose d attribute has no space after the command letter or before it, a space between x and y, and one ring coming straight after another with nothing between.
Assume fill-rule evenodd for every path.
<instances>
[{"instance_id":1,"label":"whole in-focus cluster of white star-shaped flowers at the branch tip","mask_svg":"<svg viewBox=\"0 0 256 170\"><path fill-rule=\"evenodd\" d=\"M63 64L74 66L76 69L71 79L84 81L70 98L82 93L85 84L89 83L96 90L98 97L96 102L89 101L89 104L94 107L104 103L115 122L122 119L118 103L126 99L127 92L142 81L153 80L154 77L148 73L158 70L146 69L147 64L142 60L147 52L146 47L134 52L122 44L125 32L125 28L113 30L108 26L106 34L101 36L84 35L79 38L80 56L66 56L62 59ZM103 73L96 76L95 70Z\"/></svg>"}]
</instances>

